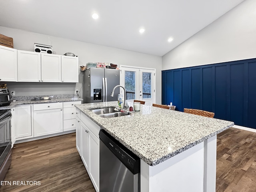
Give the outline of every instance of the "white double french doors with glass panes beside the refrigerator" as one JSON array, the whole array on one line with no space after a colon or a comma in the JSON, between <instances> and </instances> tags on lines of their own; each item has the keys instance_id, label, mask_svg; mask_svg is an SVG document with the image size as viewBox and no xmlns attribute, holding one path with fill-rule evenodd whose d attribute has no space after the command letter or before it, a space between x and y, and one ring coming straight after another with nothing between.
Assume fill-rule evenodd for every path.
<instances>
[{"instance_id":1,"label":"white double french doors with glass panes beside the refrigerator","mask_svg":"<svg viewBox=\"0 0 256 192\"><path fill-rule=\"evenodd\" d=\"M126 91L126 100L142 100L146 105L155 103L155 74L152 68L120 66L121 85ZM120 89L123 92L122 89Z\"/></svg>"}]
</instances>

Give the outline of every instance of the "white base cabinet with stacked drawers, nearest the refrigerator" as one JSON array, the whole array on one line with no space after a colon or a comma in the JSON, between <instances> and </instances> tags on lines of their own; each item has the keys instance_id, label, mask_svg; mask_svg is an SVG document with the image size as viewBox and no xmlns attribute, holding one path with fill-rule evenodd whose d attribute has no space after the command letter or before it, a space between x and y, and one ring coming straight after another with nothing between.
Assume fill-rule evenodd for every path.
<instances>
[{"instance_id":1,"label":"white base cabinet with stacked drawers, nearest the refrigerator","mask_svg":"<svg viewBox=\"0 0 256 192\"><path fill-rule=\"evenodd\" d=\"M63 131L76 130L75 104L81 104L81 101L63 102Z\"/></svg>"}]
</instances>

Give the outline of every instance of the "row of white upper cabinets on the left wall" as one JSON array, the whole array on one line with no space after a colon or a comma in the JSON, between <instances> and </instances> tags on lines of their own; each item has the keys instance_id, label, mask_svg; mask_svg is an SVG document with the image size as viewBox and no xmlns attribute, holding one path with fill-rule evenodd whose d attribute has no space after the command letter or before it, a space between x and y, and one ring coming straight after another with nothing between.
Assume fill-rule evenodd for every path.
<instances>
[{"instance_id":1,"label":"row of white upper cabinets on the left wall","mask_svg":"<svg viewBox=\"0 0 256 192\"><path fill-rule=\"evenodd\" d=\"M78 57L18 50L17 59L17 50L0 48L0 81L78 82Z\"/></svg>"}]
</instances>

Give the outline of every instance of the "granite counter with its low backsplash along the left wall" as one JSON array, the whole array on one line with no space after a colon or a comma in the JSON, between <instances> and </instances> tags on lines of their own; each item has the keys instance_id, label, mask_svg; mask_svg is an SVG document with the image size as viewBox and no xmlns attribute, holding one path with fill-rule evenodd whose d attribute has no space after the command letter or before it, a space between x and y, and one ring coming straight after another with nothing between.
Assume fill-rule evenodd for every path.
<instances>
[{"instance_id":1,"label":"granite counter with its low backsplash along the left wall","mask_svg":"<svg viewBox=\"0 0 256 192\"><path fill-rule=\"evenodd\" d=\"M44 96L17 96L17 97L13 96L11 98L11 101L12 101L11 104L8 106L0 107L0 110L11 109L17 105L56 103L56 102L69 102L69 101L83 100L78 96L76 96L75 94L51 95L49 96L49 100L34 100L35 97L44 97Z\"/></svg>"}]
</instances>

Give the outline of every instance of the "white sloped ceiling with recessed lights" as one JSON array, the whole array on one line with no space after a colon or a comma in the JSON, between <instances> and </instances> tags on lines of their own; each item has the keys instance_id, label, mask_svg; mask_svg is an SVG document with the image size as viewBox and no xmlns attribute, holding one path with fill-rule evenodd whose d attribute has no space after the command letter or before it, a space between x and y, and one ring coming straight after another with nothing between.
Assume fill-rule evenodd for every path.
<instances>
[{"instance_id":1,"label":"white sloped ceiling with recessed lights","mask_svg":"<svg viewBox=\"0 0 256 192\"><path fill-rule=\"evenodd\" d=\"M0 0L0 26L163 56L242 1Z\"/></svg>"}]
</instances>

